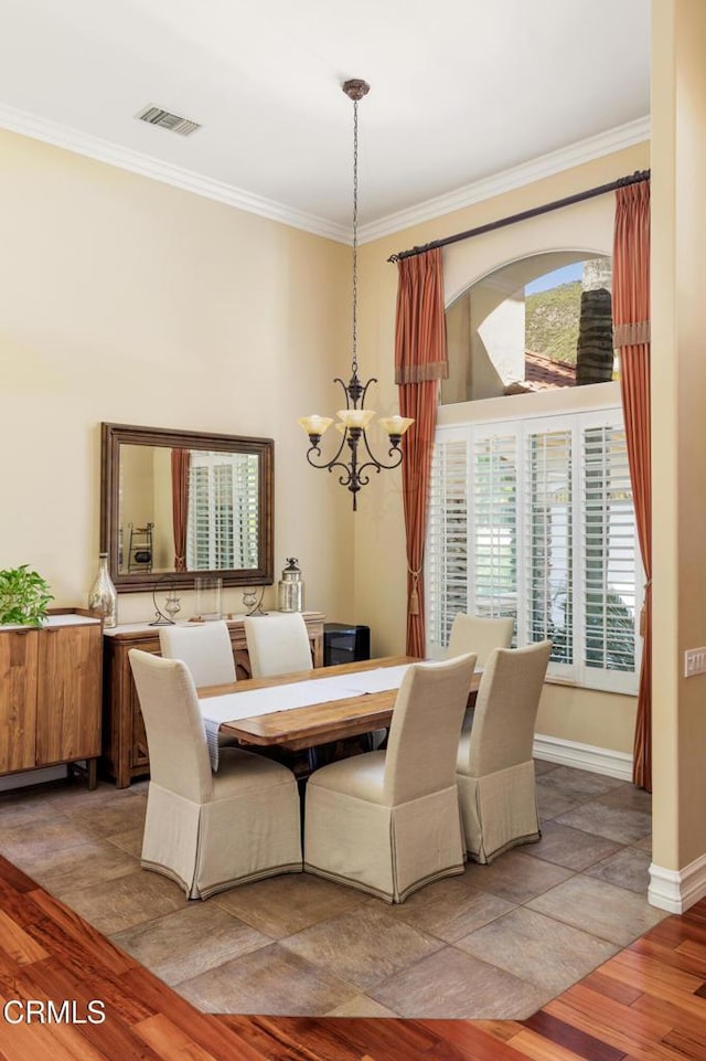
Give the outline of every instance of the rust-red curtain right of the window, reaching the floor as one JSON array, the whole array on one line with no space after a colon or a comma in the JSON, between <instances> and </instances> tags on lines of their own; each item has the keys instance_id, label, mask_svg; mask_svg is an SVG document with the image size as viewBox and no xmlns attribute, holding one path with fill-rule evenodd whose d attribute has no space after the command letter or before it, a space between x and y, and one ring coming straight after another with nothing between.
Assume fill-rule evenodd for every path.
<instances>
[{"instance_id":1,"label":"rust-red curtain right of the window, reaching the floor","mask_svg":"<svg viewBox=\"0 0 706 1061\"><path fill-rule=\"evenodd\" d=\"M645 571L642 667L632 779L652 791L652 489L650 439L650 182L616 192L613 329L620 351L630 480Z\"/></svg>"}]
</instances>

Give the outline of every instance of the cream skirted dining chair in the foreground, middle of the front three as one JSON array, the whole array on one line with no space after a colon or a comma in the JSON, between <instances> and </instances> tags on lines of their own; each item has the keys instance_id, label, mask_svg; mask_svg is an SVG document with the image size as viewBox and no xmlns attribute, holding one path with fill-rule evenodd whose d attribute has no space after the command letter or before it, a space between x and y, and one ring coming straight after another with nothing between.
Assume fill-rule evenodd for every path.
<instances>
[{"instance_id":1,"label":"cream skirted dining chair in the foreground, middle of the front three","mask_svg":"<svg viewBox=\"0 0 706 1061\"><path fill-rule=\"evenodd\" d=\"M463 872L454 763L473 655L411 664L386 751L314 771L307 782L304 871L400 903Z\"/></svg>"}]
</instances>

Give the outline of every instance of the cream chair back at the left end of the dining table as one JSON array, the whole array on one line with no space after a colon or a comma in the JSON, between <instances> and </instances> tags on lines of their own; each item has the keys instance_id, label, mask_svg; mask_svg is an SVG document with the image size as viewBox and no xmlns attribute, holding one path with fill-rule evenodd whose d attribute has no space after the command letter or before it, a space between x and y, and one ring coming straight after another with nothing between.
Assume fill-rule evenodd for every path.
<instances>
[{"instance_id":1,"label":"cream chair back at the left end of the dining table","mask_svg":"<svg viewBox=\"0 0 706 1061\"><path fill-rule=\"evenodd\" d=\"M213 775L199 700L189 668L179 659L129 651L145 719L154 784L194 803L211 798Z\"/></svg>"}]
</instances>

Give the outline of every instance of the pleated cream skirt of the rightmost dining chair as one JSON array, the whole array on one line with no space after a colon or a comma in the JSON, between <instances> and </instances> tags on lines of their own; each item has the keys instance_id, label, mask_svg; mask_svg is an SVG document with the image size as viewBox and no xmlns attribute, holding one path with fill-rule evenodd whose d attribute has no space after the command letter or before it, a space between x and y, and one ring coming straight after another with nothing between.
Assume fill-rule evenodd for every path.
<instances>
[{"instance_id":1,"label":"pleated cream skirt of the rightmost dining chair","mask_svg":"<svg viewBox=\"0 0 706 1061\"><path fill-rule=\"evenodd\" d=\"M507 848L541 837L534 763L521 763L483 777L457 773L466 850L490 862Z\"/></svg>"}]
</instances>

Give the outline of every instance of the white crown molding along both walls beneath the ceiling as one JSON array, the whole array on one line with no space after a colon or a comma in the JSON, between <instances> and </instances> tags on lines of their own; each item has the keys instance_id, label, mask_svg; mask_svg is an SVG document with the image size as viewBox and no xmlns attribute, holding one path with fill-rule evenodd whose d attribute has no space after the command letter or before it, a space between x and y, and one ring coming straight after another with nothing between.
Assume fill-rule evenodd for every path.
<instances>
[{"instance_id":1,"label":"white crown molding along both walls beneath the ceiling","mask_svg":"<svg viewBox=\"0 0 706 1061\"><path fill-rule=\"evenodd\" d=\"M258 214L269 221L291 225L293 229L300 229L312 235L324 236L349 245L352 243L351 230L347 225L336 224L314 214L293 210L291 206L234 188L223 181L211 180L179 166L161 162L149 155L141 155L138 151L118 147L108 140L101 140L99 137L86 136L75 129L49 121L24 110L0 105L0 127L32 137L35 140L42 140L54 147L64 148L67 151L74 151L77 155L84 155L95 161L106 162L108 166L116 166L131 173L171 184L173 188L181 188L183 191L193 192L195 195L203 195L228 206ZM523 162L521 166L503 170L501 173L494 173L492 177L466 184L463 188L457 188L452 192L429 199L408 210L400 210L371 224L361 225L359 242L371 243L382 236L392 235L425 221L432 221L454 210L462 210L464 206L470 206L484 199L491 199L494 195L500 195L503 192L512 191L515 188L570 169L573 166L581 166L592 159L602 158L605 155L611 155L649 139L650 118L639 118L598 136L579 140L577 144L571 144L558 151L542 155L530 162Z\"/></svg>"}]
</instances>

